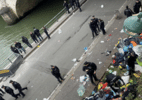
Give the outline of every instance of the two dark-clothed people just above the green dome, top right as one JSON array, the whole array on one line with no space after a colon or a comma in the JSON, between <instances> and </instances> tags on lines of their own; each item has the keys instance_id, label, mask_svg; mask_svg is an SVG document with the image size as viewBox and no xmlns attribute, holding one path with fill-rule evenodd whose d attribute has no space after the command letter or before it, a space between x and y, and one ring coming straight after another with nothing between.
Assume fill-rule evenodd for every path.
<instances>
[{"instance_id":1,"label":"two dark-clothed people just above the green dome, top right","mask_svg":"<svg viewBox=\"0 0 142 100\"><path fill-rule=\"evenodd\" d=\"M124 10L124 14L125 14L125 16L130 17L130 16L132 16L132 14L139 13L140 8L141 8L141 1L136 0L135 5L133 6L133 11L134 12L128 6L126 6L126 9Z\"/></svg>"}]
</instances>

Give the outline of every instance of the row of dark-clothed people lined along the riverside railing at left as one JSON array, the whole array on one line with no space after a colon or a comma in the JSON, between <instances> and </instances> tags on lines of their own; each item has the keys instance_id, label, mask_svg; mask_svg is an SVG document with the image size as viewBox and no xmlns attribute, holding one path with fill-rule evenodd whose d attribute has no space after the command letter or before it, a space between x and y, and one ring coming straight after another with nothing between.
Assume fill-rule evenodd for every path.
<instances>
[{"instance_id":1,"label":"row of dark-clothed people lined along the riverside railing at left","mask_svg":"<svg viewBox=\"0 0 142 100\"><path fill-rule=\"evenodd\" d=\"M33 41L37 44L37 43L39 43L39 41L43 40L43 37L40 34L38 29L36 29L35 27L33 29L34 29L34 32L30 32L30 36L33 39ZM48 39L50 39L50 35L48 34L48 31L47 31L46 27L43 27L42 29L44 30L44 32L47 35ZM33 48L33 46L31 45L31 43L29 42L27 37L22 36L22 42L24 44L26 44L28 47ZM22 44L20 42L15 42L14 44L15 44L15 46L11 45L11 47L10 47L12 52L14 52L15 54L21 54L22 51L23 51L26 54L26 50L22 46Z\"/></svg>"}]
</instances>

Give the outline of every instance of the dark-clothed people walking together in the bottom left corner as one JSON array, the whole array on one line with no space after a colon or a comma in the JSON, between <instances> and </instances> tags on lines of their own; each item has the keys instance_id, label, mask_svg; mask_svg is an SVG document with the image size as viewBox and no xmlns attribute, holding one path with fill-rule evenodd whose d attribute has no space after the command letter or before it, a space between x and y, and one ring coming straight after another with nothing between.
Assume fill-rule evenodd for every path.
<instances>
[{"instance_id":1,"label":"dark-clothed people walking together in the bottom left corner","mask_svg":"<svg viewBox=\"0 0 142 100\"><path fill-rule=\"evenodd\" d=\"M15 99L18 99L18 97L21 96L21 95L22 95L23 98L25 97L25 94L24 94L22 91L25 90L25 89L28 90L27 87L22 88L22 86L20 85L20 83L18 83L18 82L16 82L16 81L13 81L13 80L10 80L9 83L11 83L12 86L14 87L14 89L15 89L15 90L18 90L19 93L18 93L18 94L15 94L15 93L14 93L14 90L13 90L11 87L2 85L1 88L4 89L6 93L8 93L9 95L11 95L11 96L14 97ZM0 91L1 91L3 94L5 94L5 92L2 91L1 89L0 89ZM0 95L0 100L5 100L2 96L3 96L3 95Z\"/></svg>"}]
</instances>

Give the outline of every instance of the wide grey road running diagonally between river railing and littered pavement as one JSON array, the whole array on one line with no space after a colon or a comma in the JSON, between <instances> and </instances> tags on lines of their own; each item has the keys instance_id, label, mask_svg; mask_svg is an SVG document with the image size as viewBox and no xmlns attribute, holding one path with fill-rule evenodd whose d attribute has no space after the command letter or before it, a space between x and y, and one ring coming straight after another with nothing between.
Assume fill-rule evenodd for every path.
<instances>
[{"instance_id":1,"label":"wide grey road running diagonally between river railing and littered pavement","mask_svg":"<svg viewBox=\"0 0 142 100\"><path fill-rule=\"evenodd\" d=\"M57 80L50 73L50 65L57 65L62 75L65 75L74 65L72 59L80 58L84 52L83 48L88 47L93 41L88 26L91 15L104 19L107 24L113 17L115 10L119 9L124 2L125 0L88 0L82 6L81 13L75 12L60 27L62 33L54 32L52 39L45 41L37 48L17 70L13 79L20 82L22 86L29 87L29 90L25 91L26 97L18 100L47 98L58 85ZM104 8L101 8L102 4ZM95 38L96 41L100 39L97 38ZM96 53L99 50L104 52L104 49L101 49L99 45L96 48ZM100 59L99 56L97 57ZM2 84L8 84L9 80L2 82ZM14 100L7 94L4 98Z\"/></svg>"}]
</instances>

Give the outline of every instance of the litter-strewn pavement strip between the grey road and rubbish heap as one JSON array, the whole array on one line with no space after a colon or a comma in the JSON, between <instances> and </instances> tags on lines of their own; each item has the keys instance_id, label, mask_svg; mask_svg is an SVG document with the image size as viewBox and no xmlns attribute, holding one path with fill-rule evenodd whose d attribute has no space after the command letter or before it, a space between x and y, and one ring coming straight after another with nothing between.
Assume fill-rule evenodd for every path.
<instances>
[{"instance_id":1,"label":"litter-strewn pavement strip between the grey road and rubbish heap","mask_svg":"<svg viewBox=\"0 0 142 100\"><path fill-rule=\"evenodd\" d=\"M131 1L129 4L130 7L131 4L133 4L133 1ZM125 6L121 10L121 15L123 15L124 9ZM70 72L70 75L68 75L64 83L62 83L62 85L55 90L55 93L50 98L50 100L82 100L83 98L91 95L95 87L91 84L90 81L85 85L86 91L82 97L79 97L77 93L77 89L81 84L79 82L79 77L85 75L85 72L82 71L83 63L85 61L95 62L98 68L97 76L98 78L102 78L106 69L112 62L112 55L115 52L118 52L117 49L114 49L115 44L118 42L118 38L125 38L128 36L125 33L120 32L122 30L125 19L126 17L123 15L122 19L113 20L113 23L107 29L107 34L105 36L100 34L97 37L97 41L93 41L90 47L88 47L88 52L83 54L83 59L80 59L81 61L75 64L76 66L73 68L75 71ZM111 36L109 36L110 34ZM104 41L104 43L101 43L101 41ZM109 57L106 56L106 54L101 54L106 50L112 51ZM72 77L75 77L75 79L72 79Z\"/></svg>"}]
</instances>

